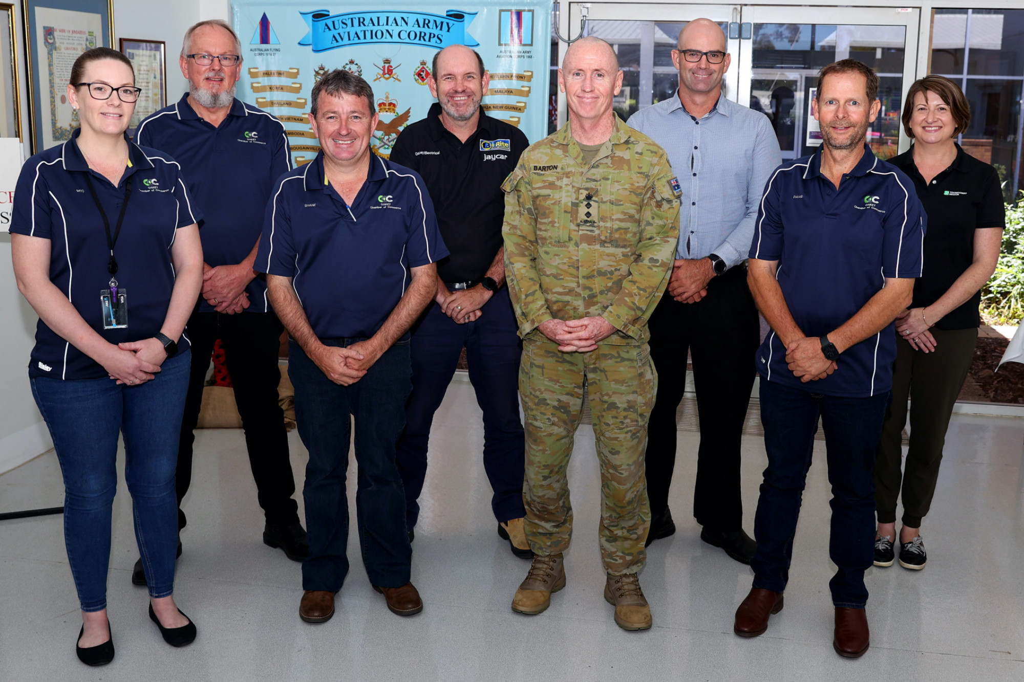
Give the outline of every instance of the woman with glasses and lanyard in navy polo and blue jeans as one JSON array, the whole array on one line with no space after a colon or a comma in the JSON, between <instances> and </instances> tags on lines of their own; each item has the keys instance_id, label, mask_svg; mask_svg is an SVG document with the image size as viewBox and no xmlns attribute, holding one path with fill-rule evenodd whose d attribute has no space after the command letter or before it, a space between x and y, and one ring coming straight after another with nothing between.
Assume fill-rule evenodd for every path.
<instances>
[{"instance_id":1,"label":"woman with glasses and lanyard in navy polo and blue jeans","mask_svg":"<svg viewBox=\"0 0 1024 682\"><path fill-rule=\"evenodd\" d=\"M169 644L196 638L171 593L200 215L178 165L125 135L139 92L120 52L78 57L68 99L81 127L22 168L10 227L17 287L39 315L29 377L63 474L76 650L90 666L114 658L106 571L120 433L150 617Z\"/></svg>"}]
</instances>

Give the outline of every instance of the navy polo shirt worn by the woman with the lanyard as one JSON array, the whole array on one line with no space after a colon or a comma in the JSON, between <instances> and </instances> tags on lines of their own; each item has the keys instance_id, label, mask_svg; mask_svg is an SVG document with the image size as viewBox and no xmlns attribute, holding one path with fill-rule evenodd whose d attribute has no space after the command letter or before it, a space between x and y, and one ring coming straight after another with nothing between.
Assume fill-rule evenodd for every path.
<instances>
[{"instance_id":1,"label":"navy polo shirt worn by the woman with the lanyard","mask_svg":"<svg viewBox=\"0 0 1024 682\"><path fill-rule=\"evenodd\" d=\"M129 168L118 186L91 170L78 148L80 130L70 141L29 159L14 191L10 231L50 240L50 282L111 343L139 341L164 325L174 289L171 245L176 230L202 220L181 169L169 156L128 142ZM131 179L131 197L114 247L118 284L128 294L128 327L103 329L99 292L106 288L110 250L103 219L89 191L88 176L106 213L111 233ZM190 345L182 335L181 347ZM40 319L29 376L104 379L106 370Z\"/></svg>"}]
</instances>

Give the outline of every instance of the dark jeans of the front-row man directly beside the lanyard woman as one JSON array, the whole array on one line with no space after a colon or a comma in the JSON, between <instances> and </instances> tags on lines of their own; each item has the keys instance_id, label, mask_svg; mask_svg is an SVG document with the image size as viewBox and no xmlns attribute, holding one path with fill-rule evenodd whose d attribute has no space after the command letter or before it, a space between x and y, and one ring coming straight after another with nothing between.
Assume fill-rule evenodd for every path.
<instances>
[{"instance_id":1,"label":"dark jeans of the front-row man directly beside the lanyard woman","mask_svg":"<svg viewBox=\"0 0 1024 682\"><path fill-rule=\"evenodd\" d=\"M344 347L364 340L322 341ZM394 444L406 424L406 399L412 389L409 335L350 386L328 379L295 341L288 348L295 421L309 451L302 491L309 558L302 562L302 589L337 592L348 574L345 472L353 417L358 463L355 519L362 563L371 584L401 587L410 580L413 548L406 530L406 494L394 463Z\"/></svg>"}]
</instances>

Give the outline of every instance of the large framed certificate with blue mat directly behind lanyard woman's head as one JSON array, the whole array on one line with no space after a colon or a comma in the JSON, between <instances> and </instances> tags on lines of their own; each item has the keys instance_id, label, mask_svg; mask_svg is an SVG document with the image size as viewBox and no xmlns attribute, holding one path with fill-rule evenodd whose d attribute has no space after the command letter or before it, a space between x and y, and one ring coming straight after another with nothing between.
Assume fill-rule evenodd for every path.
<instances>
[{"instance_id":1,"label":"large framed certificate with blue mat directly behind lanyard woman's head","mask_svg":"<svg viewBox=\"0 0 1024 682\"><path fill-rule=\"evenodd\" d=\"M68 101L71 68L82 52L112 47L114 0L22 0L29 62L32 153L71 139L78 113Z\"/></svg>"}]
</instances>

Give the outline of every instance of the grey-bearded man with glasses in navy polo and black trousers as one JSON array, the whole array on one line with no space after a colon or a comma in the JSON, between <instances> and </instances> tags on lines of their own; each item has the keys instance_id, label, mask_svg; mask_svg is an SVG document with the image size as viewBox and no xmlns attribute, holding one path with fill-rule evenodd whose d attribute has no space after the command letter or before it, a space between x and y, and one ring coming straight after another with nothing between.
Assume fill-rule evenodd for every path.
<instances>
[{"instance_id":1,"label":"grey-bearded man with glasses in navy polo and black trousers","mask_svg":"<svg viewBox=\"0 0 1024 682\"><path fill-rule=\"evenodd\" d=\"M288 138L281 121L234 98L242 48L225 22L200 22L188 29L179 63L188 93L142 121L135 135L138 144L166 152L181 164L190 196L205 216L200 225L203 292L186 331L193 365L178 447L178 529L185 526L182 499L191 479L193 429L213 345L220 339L265 514L263 542L301 561L308 544L292 499L295 478L278 403L284 328L267 302L265 280L253 270L273 182L292 167ZM145 585L141 559L132 582Z\"/></svg>"}]
</instances>

